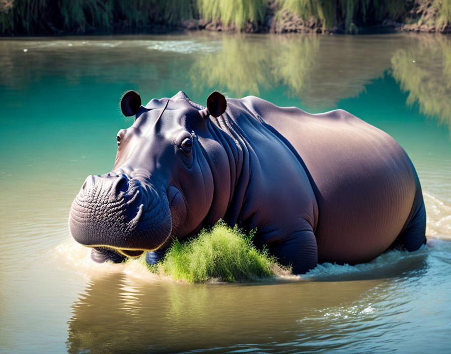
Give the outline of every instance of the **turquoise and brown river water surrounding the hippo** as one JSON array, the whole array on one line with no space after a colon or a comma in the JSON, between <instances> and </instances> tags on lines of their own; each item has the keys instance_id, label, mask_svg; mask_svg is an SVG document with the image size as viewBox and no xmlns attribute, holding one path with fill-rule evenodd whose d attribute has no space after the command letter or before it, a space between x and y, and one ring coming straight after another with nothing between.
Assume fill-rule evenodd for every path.
<instances>
[{"instance_id":1,"label":"turquoise and brown river water surrounding the hippo","mask_svg":"<svg viewBox=\"0 0 451 354\"><path fill-rule=\"evenodd\" d=\"M26 50L26 51L25 51ZM391 34L0 40L0 351L425 352L451 345L451 38ZM423 187L428 244L264 284L186 285L94 264L67 217L109 171L126 90L345 109L391 134Z\"/></svg>"}]
</instances>

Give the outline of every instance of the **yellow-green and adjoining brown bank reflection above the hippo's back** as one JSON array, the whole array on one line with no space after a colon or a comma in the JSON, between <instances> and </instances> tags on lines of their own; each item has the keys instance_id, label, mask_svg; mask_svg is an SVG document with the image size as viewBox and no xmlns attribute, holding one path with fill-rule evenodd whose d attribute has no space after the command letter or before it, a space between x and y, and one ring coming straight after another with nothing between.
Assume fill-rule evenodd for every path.
<instances>
[{"instance_id":1,"label":"yellow-green and adjoining brown bank reflection above the hippo's back","mask_svg":"<svg viewBox=\"0 0 451 354\"><path fill-rule=\"evenodd\" d=\"M233 97L282 86L309 107L333 107L382 76L404 44L391 38L224 36L220 51L196 58L190 79L199 91L209 86Z\"/></svg>"}]
</instances>

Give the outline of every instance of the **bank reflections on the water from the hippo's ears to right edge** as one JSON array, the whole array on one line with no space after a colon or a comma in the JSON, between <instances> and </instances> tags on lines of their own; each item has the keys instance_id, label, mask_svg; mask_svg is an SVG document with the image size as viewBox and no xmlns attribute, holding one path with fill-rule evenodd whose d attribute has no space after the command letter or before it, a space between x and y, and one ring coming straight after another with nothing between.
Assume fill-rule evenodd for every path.
<instances>
[{"instance_id":1,"label":"bank reflections on the water from the hippo's ears to right edge","mask_svg":"<svg viewBox=\"0 0 451 354\"><path fill-rule=\"evenodd\" d=\"M451 39L433 35L224 36L219 51L196 58L189 78L201 90L259 96L284 87L313 109L334 108L393 68L407 104L451 124Z\"/></svg>"}]
</instances>

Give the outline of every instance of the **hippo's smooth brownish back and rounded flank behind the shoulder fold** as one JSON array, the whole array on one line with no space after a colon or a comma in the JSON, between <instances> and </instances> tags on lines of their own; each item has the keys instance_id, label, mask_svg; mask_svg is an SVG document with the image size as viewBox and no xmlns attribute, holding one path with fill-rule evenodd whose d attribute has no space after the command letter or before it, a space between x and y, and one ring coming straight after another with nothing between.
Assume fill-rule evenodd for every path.
<instances>
[{"instance_id":1,"label":"hippo's smooth brownish back and rounded flank behind the shoulder fold","mask_svg":"<svg viewBox=\"0 0 451 354\"><path fill-rule=\"evenodd\" d=\"M390 135L342 110L312 115L255 97L240 101L305 165L318 202L319 262L367 261L393 243L421 188Z\"/></svg>"}]
</instances>

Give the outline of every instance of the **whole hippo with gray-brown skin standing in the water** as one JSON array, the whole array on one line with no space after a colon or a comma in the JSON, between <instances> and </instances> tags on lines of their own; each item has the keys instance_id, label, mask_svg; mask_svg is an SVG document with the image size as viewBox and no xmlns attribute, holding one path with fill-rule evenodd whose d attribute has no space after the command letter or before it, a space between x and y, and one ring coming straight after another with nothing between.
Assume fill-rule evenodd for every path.
<instances>
[{"instance_id":1,"label":"whole hippo with gray-brown skin standing in the water","mask_svg":"<svg viewBox=\"0 0 451 354\"><path fill-rule=\"evenodd\" d=\"M257 229L254 243L296 274L426 242L412 162L348 112L309 114L217 92L206 108L183 92L141 106L128 92L121 109L135 121L118 133L113 170L88 176L69 216L96 261L147 251L155 263L174 238L219 219Z\"/></svg>"}]
</instances>

